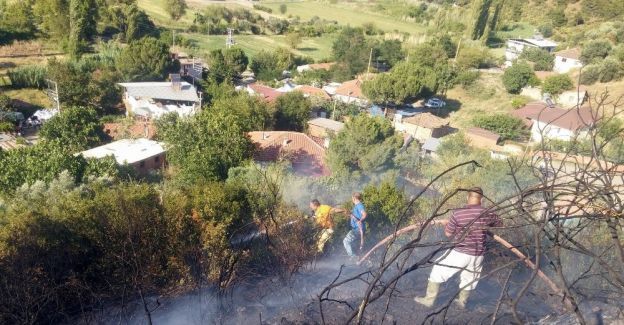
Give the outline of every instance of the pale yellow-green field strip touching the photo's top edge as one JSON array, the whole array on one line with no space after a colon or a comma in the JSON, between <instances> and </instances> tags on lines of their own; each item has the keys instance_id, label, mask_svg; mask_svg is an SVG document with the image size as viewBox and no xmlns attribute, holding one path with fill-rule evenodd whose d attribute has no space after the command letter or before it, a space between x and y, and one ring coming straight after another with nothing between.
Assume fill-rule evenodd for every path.
<instances>
[{"instance_id":1,"label":"pale yellow-green field strip touching the photo's top edge","mask_svg":"<svg viewBox=\"0 0 624 325\"><path fill-rule=\"evenodd\" d=\"M262 5L273 9L273 14L280 16L279 7L286 4L287 10L282 17L299 16L302 20L309 20L314 16L322 19L335 20L342 25L362 26L365 23L374 23L377 28L386 32L399 31L410 34L424 33L425 27L416 23L401 21L387 14L373 12L374 7L368 8L365 3L339 3L305 1L305 2L262 2Z\"/></svg>"}]
</instances>

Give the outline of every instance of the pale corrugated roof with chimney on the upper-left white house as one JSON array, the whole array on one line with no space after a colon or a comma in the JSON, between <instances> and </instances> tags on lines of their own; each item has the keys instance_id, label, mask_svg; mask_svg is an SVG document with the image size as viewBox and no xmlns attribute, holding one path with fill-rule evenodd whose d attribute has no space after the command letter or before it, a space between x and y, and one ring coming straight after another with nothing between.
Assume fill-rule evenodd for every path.
<instances>
[{"instance_id":1,"label":"pale corrugated roof with chimney on the upper-left white house","mask_svg":"<svg viewBox=\"0 0 624 325\"><path fill-rule=\"evenodd\" d=\"M129 96L136 98L153 98L160 100L199 102L197 90L188 82L181 82L180 89L174 89L171 82L124 82L120 86L126 88Z\"/></svg>"}]
</instances>

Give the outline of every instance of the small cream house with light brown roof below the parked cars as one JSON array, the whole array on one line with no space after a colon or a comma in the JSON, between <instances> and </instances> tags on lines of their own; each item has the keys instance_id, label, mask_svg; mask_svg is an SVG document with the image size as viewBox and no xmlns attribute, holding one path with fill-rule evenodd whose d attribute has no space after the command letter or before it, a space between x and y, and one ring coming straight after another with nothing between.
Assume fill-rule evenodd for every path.
<instances>
[{"instance_id":1,"label":"small cream house with light brown roof below the parked cars","mask_svg":"<svg viewBox=\"0 0 624 325\"><path fill-rule=\"evenodd\" d=\"M431 113L421 113L408 118L395 114L393 125L395 130L409 134L421 143L429 138L441 138L453 130L448 120Z\"/></svg>"}]
</instances>

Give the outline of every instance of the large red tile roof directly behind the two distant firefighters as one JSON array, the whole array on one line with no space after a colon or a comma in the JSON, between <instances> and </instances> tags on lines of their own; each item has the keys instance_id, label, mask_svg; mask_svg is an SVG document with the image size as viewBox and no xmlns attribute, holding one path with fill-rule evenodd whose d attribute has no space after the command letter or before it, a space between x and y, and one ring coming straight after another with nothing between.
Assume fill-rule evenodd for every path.
<instances>
[{"instance_id":1,"label":"large red tile roof directly behind the two distant firefighters","mask_svg":"<svg viewBox=\"0 0 624 325\"><path fill-rule=\"evenodd\" d=\"M325 164L325 149L303 133L254 131L248 135L256 146L256 161L287 159L297 174L314 177L329 175Z\"/></svg>"}]
</instances>

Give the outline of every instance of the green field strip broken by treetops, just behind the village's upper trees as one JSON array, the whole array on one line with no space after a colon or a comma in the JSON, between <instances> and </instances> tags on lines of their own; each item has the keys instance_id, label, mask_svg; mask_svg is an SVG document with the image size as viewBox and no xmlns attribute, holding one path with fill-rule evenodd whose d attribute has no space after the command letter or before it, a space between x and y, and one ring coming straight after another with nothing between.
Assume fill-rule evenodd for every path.
<instances>
[{"instance_id":1,"label":"green field strip broken by treetops, just behind the village's upper trees","mask_svg":"<svg viewBox=\"0 0 624 325\"><path fill-rule=\"evenodd\" d=\"M201 35L183 34L184 37L197 42L197 49L189 50L192 54L203 56L210 50L225 48L224 35ZM261 50L274 50L279 47L288 48L285 37L281 35L235 35L236 45L243 49L247 55L253 57ZM331 56L331 46L334 36L303 38L297 50L292 52L311 57L314 60L327 59Z\"/></svg>"}]
</instances>

